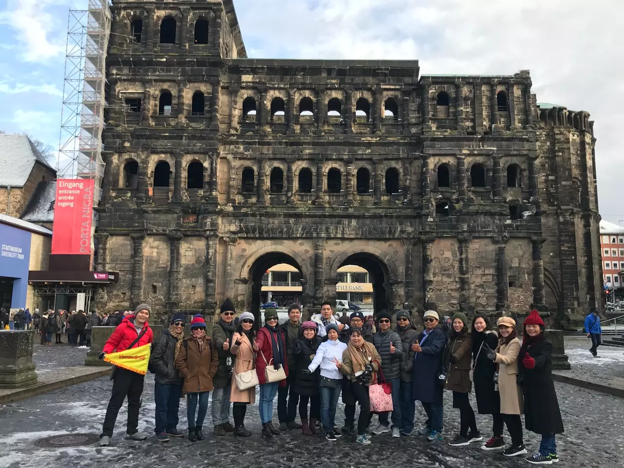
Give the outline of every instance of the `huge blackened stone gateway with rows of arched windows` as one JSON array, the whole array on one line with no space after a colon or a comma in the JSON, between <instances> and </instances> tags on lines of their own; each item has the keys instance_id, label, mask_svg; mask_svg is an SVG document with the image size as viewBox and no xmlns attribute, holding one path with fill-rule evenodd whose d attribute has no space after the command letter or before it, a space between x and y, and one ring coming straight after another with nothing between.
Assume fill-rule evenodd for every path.
<instances>
[{"instance_id":1,"label":"huge blackened stone gateway with rows of arched windows","mask_svg":"<svg viewBox=\"0 0 624 468\"><path fill-rule=\"evenodd\" d=\"M421 76L415 60L250 59L232 0L121 1L107 51L100 308L259 314L338 268L375 308L578 323L602 305L593 122L537 104L529 71Z\"/></svg>"}]
</instances>

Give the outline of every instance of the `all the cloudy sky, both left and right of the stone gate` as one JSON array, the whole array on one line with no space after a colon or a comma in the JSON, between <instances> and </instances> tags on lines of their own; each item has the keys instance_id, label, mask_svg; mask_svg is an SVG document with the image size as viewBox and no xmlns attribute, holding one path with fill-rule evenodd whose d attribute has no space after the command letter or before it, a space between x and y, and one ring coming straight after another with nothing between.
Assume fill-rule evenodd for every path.
<instances>
[{"instance_id":1,"label":"all the cloudy sky, both left and right of the stone gate","mask_svg":"<svg viewBox=\"0 0 624 468\"><path fill-rule=\"evenodd\" d=\"M87 2L0 0L0 129L58 146L67 11ZM421 74L529 69L538 102L592 115L600 213L624 220L622 0L234 2L250 57L419 59Z\"/></svg>"}]
</instances>

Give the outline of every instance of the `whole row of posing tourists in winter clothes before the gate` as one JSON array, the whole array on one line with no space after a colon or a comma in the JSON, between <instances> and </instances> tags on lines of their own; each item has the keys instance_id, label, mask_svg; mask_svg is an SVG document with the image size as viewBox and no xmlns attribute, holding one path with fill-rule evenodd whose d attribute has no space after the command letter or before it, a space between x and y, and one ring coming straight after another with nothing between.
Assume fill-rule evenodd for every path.
<instances>
[{"instance_id":1,"label":"whole row of posing tourists in winter clothes before the gate","mask_svg":"<svg viewBox=\"0 0 624 468\"><path fill-rule=\"evenodd\" d=\"M142 304L126 316L100 358L152 343L149 315L149 306ZM384 432L392 437L416 432L430 442L440 442L446 389L452 392L460 423L459 433L449 444L465 447L484 440L470 405L474 383L477 411L492 415L492 437L481 443L481 449L500 450L510 457L527 454L520 419L524 414L526 429L542 435L539 451L526 460L532 464L558 461L555 435L563 432L563 422L551 374L552 344L535 310L524 320L522 343L514 319L507 316L499 318L497 329L492 330L484 314L469 323L465 314L456 313L448 328L436 311L429 310L420 333L407 310L397 311L397 326L392 329L392 316L386 311L376 314L374 323L360 311L348 320L336 319L329 302L323 303L320 314L303 323L299 305L290 306L288 321L281 325L277 311L267 308L265 324L258 331L254 331L253 314L235 316L232 301L226 300L212 336L206 333L200 314L190 323L190 336L185 336L185 316L175 314L152 346L149 362L155 374L158 441L185 434L192 442L203 440L210 392L213 434L251 436L245 415L259 386L261 434L267 438L289 429L311 436L321 427L330 442L349 435L359 444L370 445L372 435ZM128 437L146 438L137 431L143 385L144 376L116 370L100 436L102 446L110 442L126 396ZM383 388L381 393L379 388ZM341 394L344 425L339 428L335 418ZM177 427L181 396L187 399L188 432ZM279 424L273 423L276 397ZM416 401L427 415L418 429L414 429ZM295 421L297 411L300 422ZM373 411L378 414L376 424ZM504 425L512 439L509 445L503 438Z\"/></svg>"}]
</instances>

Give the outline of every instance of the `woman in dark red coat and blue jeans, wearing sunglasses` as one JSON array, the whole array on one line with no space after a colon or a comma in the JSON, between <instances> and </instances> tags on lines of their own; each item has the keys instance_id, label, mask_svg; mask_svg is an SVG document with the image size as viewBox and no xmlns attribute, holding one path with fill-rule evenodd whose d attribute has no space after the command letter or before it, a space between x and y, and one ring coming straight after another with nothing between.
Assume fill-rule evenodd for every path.
<instances>
[{"instance_id":1,"label":"woman in dark red coat and blue jeans, wearing sunglasses","mask_svg":"<svg viewBox=\"0 0 624 468\"><path fill-rule=\"evenodd\" d=\"M286 380L279 382L266 381L266 367L277 370L282 366L288 376L286 362L286 345L284 332L278 328L277 311L270 307L265 310L265 326L258 330L256 342L253 344L256 351L256 371L260 383L260 421L262 421L262 435L277 436L280 431L273 427L273 400L279 386L285 387Z\"/></svg>"}]
</instances>

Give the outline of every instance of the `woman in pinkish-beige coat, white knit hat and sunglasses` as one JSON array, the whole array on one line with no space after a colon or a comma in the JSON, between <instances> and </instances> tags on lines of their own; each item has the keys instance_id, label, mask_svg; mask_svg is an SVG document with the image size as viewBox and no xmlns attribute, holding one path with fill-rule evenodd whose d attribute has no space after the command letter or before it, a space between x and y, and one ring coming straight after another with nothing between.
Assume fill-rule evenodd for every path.
<instances>
[{"instance_id":1,"label":"woman in pinkish-beige coat, white knit hat and sunglasses","mask_svg":"<svg viewBox=\"0 0 624 468\"><path fill-rule=\"evenodd\" d=\"M238 330L232 335L232 347L230 351L236 356L232 372L232 391L230 391L230 401L233 402L232 413L234 416L234 435L238 437L249 437L251 432L245 429L245 412L247 405L256 401L255 386L246 390L239 390L236 387L236 374L250 371L254 368L255 356L253 352L253 314L243 312L240 314L240 325Z\"/></svg>"}]
</instances>

